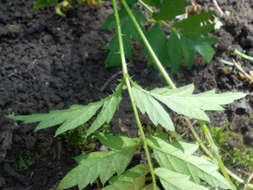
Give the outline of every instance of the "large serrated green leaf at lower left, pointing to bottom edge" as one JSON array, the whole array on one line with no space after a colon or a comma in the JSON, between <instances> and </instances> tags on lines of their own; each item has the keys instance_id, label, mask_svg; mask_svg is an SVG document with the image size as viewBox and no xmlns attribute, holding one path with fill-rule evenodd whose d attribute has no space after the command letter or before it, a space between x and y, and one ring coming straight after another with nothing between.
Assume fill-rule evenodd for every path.
<instances>
[{"instance_id":1,"label":"large serrated green leaf at lower left, pointing to bottom edge","mask_svg":"<svg viewBox=\"0 0 253 190\"><path fill-rule=\"evenodd\" d=\"M79 165L72 169L60 182L58 189L78 185L79 189L93 183L98 177L105 184L114 173L121 175L136 151L137 145L117 151L93 152L78 157Z\"/></svg>"}]
</instances>

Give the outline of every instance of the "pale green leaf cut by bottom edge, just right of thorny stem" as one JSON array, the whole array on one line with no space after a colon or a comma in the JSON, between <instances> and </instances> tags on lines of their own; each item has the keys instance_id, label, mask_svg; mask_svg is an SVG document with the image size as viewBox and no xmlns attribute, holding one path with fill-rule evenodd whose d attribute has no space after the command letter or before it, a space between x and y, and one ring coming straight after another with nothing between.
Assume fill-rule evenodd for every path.
<instances>
[{"instance_id":1,"label":"pale green leaf cut by bottom edge, just right of thorny stem","mask_svg":"<svg viewBox=\"0 0 253 190\"><path fill-rule=\"evenodd\" d=\"M159 177L165 190L208 190L208 188L193 183L189 177L166 168L156 168L155 174Z\"/></svg>"}]
</instances>

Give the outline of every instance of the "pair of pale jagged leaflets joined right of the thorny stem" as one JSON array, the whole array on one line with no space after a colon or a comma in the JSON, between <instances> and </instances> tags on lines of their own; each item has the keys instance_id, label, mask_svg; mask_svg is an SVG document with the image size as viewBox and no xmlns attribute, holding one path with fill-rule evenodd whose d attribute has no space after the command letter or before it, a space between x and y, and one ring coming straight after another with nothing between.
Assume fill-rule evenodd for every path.
<instances>
[{"instance_id":1,"label":"pair of pale jagged leaflets joined right of the thorny stem","mask_svg":"<svg viewBox=\"0 0 253 190\"><path fill-rule=\"evenodd\" d=\"M193 90L193 84L177 89L157 88L151 91L146 91L135 85L133 94L137 107L143 114L147 113L154 125L160 124L172 131L174 131L174 125L157 100L178 114L209 121L204 111L223 110L220 105L229 104L245 96L244 93L215 94L214 90L193 94Z\"/></svg>"}]
</instances>

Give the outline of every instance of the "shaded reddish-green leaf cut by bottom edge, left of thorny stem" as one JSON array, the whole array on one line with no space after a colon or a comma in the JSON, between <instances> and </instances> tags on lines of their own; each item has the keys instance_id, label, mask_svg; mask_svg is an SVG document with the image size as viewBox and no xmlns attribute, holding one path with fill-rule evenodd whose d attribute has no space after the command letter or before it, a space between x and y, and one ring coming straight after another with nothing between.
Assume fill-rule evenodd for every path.
<instances>
[{"instance_id":1,"label":"shaded reddish-green leaf cut by bottom edge, left of thorny stem","mask_svg":"<svg viewBox=\"0 0 253 190\"><path fill-rule=\"evenodd\" d=\"M145 185L145 176L149 169L144 165L137 165L120 176L113 177L110 185L103 190L141 190Z\"/></svg>"}]
</instances>

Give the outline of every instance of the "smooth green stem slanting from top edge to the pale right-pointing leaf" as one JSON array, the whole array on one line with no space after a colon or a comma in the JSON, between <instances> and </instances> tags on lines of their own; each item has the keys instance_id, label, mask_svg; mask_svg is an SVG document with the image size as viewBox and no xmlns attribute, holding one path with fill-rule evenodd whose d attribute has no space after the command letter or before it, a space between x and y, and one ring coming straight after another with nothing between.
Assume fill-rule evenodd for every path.
<instances>
[{"instance_id":1,"label":"smooth green stem slanting from top edge to the pale right-pointing leaf","mask_svg":"<svg viewBox=\"0 0 253 190\"><path fill-rule=\"evenodd\" d=\"M166 80L166 82L168 83L168 85L170 86L170 88L176 88L175 84L172 82L171 78L169 77L168 73L166 72L166 70L164 69L164 67L162 66L161 62L159 61L158 57L156 56L155 52L153 51L152 47L150 46L145 34L143 33L143 31L141 30L141 27L139 26L136 18L134 17L131 9L129 8L128 4L126 3L125 0L120 0L120 2L122 3L122 5L124 6L124 8L127 11L128 16L130 17L130 19L132 20L136 30L138 31L145 47L147 48L150 56L152 57L154 63L156 64L158 70L162 73L164 79Z\"/></svg>"}]
</instances>

